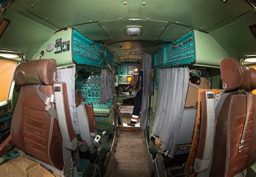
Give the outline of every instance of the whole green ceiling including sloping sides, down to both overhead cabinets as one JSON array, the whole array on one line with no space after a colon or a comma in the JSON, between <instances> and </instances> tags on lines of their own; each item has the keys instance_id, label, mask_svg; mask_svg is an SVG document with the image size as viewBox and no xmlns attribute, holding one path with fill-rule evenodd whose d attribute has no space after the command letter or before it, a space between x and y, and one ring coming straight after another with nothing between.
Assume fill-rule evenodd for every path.
<instances>
[{"instance_id":1,"label":"whole green ceiling including sloping sides, down to both overhead cabinets","mask_svg":"<svg viewBox=\"0 0 256 177\"><path fill-rule=\"evenodd\" d=\"M5 12L4 17L12 22L0 45L15 47L30 58L53 32L72 26L86 37L105 43L119 59L138 58L130 51L153 53L192 29L212 34L232 50L232 44L223 37L226 33L234 37L239 28L235 26L237 30L230 29L230 33L224 26L252 11L246 0L16 0ZM16 19L13 14L17 14ZM124 28L128 25L142 26L143 35L126 36ZM10 36L17 42L8 41ZM242 42L241 45L245 43Z\"/></svg>"}]
</instances>

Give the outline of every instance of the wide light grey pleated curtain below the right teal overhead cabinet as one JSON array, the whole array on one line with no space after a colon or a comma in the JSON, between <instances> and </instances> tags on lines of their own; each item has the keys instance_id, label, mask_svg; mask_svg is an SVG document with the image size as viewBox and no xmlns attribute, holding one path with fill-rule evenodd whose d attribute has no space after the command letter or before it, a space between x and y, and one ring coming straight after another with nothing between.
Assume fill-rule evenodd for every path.
<instances>
[{"instance_id":1,"label":"wide light grey pleated curtain below the right teal overhead cabinet","mask_svg":"<svg viewBox=\"0 0 256 177\"><path fill-rule=\"evenodd\" d=\"M159 136L173 158L187 95L187 67L160 69L153 134Z\"/></svg>"}]
</instances>

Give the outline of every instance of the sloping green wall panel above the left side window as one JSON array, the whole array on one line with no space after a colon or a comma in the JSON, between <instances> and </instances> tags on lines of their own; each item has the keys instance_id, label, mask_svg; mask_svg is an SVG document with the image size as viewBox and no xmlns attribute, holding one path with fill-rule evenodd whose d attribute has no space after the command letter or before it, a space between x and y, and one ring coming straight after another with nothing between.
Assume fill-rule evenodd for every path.
<instances>
[{"instance_id":1,"label":"sloping green wall panel above the left side window","mask_svg":"<svg viewBox=\"0 0 256 177\"><path fill-rule=\"evenodd\" d=\"M0 22L4 18L11 22L0 37L0 47L21 51L27 60L31 60L39 47L55 32L12 10L5 12Z\"/></svg>"}]
</instances>

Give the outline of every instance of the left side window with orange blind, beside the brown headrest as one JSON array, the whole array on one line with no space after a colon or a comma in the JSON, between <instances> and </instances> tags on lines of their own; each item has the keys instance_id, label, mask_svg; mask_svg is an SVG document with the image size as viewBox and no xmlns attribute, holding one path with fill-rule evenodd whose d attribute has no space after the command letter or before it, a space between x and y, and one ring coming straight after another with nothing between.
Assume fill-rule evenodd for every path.
<instances>
[{"instance_id":1,"label":"left side window with orange blind, beside the brown headrest","mask_svg":"<svg viewBox=\"0 0 256 177\"><path fill-rule=\"evenodd\" d=\"M0 50L0 106L7 104L11 98L14 71L19 60L21 60L21 56L18 53Z\"/></svg>"}]
</instances>

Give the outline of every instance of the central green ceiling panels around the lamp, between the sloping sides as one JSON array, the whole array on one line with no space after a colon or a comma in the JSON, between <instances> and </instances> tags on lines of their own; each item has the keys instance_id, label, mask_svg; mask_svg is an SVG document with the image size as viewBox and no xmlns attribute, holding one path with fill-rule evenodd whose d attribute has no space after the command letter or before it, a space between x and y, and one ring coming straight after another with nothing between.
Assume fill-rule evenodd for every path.
<instances>
[{"instance_id":1,"label":"central green ceiling panels around the lamp, between the sloping sides","mask_svg":"<svg viewBox=\"0 0 256 177\"><path fill-rule=\"evenodd\" d=\"M192 28L211 31L252 11L245 0L17 0L11 8L56 30L75 26L93 40L129 40L123 32L125 25L132 24L128 19L142 19L135 22L145 33L138 39L167 41Z\"/></svg>"}]
</instances>

